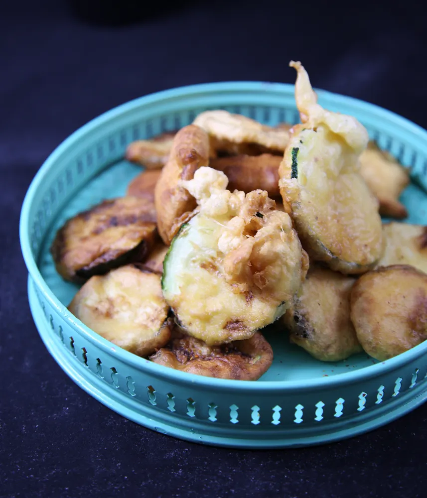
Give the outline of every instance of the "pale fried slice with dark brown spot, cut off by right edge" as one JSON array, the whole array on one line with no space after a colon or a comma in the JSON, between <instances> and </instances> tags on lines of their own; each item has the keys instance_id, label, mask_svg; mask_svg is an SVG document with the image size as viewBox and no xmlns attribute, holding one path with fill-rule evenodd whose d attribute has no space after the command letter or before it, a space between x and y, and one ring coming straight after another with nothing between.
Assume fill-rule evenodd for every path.
<instances>
[{"instance_id":1,"label":"pale fried slice with dark brown spot, cut off by right edge","mask_svg":"<svg viewBox=\"0 0 427 498\"><path fill-rule=\"evenodd\" d=\"M409 264L427 273L427 227L392 222L383 225L385 250L378 266Z\"/></svg>"}]
</instances>

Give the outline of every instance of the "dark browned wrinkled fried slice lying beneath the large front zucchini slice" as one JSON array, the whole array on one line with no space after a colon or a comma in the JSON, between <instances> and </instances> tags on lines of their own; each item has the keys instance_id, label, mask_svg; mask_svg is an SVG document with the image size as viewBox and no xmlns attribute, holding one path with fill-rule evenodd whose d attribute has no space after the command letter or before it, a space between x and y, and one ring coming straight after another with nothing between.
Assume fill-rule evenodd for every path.
<instances>
[{"instance_id":1,"label":"dark browned wrinkled fried slice lying beneath the large front zucchini slice","mask_svg":"<svg viewBox=\"0 0 427 498\"><path fill-rule=\"evenodd\" d=\"M208 346L175 328L172 340L150 360L182 372L233 380L257 380L273 362L273 350L260 332L250 339Z\"/></svg>"}]
</instances>

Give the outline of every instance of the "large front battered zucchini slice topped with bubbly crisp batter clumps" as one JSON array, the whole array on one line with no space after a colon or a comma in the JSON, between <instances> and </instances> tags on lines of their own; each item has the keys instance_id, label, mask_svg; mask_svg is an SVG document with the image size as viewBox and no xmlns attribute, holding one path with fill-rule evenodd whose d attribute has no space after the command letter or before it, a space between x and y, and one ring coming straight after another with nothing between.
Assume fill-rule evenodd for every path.
<instances>
[{"instance_id":1,"label":"large front battered zucchini slice topped with bubbly crisp batter clumps","mask_svg":"<svg viewBox=\"0 0 427 498\"><path fill-rule=\"evenodd\" d=\"M202 167L181 182L199 212L166 254L163 295L182 328L208 345L249 339L285 313L308 259L286 213L267 192L226 190Z\"/></svg>"}]
</instances>

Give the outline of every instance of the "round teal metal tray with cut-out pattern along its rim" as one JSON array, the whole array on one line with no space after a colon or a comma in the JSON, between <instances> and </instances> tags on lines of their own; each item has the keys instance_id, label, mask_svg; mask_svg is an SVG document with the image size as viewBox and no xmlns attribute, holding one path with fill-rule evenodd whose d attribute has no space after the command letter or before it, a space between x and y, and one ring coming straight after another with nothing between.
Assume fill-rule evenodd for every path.
<instances>
[{"instance_id":1,"label":"round teal metal tray with cut-out pattern along its rim","mask_svg":"<svg viewBox=\"0 0 427 498\"><path fill-rule=\"evenodd\" d=\"M356 116L379 145L411 167L401 201L408 223L427 220L427 132L388 111L318 91L330 110ZM427 345L386 362L359 354L319 362L266 331L275 359L256 382L211 379L151 364L104 340L66 306L78 287L55 271L56 230L103 199L124 195L141 168L123 160L135 139L191 123L206 109L226 109L266 124L295 123L293 86L220 83L161 92L85 125L46 160L25 198L21 245L36 326L59 365L104 404L142 425L207 444L286 447L349 437L387 423L426 396Z\"/></svg>"}]
</instances>

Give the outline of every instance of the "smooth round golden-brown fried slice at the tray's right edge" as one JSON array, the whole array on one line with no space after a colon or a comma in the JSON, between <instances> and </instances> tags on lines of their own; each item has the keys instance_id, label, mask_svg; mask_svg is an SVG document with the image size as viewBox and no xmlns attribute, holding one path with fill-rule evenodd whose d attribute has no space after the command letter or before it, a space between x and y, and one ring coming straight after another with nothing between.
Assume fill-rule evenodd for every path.
<instances>
[{"instance_id":1,"label":"smooth round golden-brown fried slice at the tray's right edge","mask_svg":"<svg viewBox=\"0 0 427 498\"><path fill-rule=\"evenodd\" d=\"M366 273L351 291L351 320L376 360L421 344L427 339L427 275L399 264Z\"/></svg>"}]
</instances>

